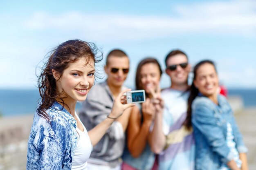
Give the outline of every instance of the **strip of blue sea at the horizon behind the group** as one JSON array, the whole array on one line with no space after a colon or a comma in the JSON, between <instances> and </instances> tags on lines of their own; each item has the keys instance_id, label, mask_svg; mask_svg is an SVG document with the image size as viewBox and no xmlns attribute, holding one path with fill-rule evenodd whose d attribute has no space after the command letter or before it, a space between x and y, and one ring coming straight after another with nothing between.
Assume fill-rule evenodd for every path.
<instances>
[{"instance_id":1,"label":"strip of blue sea at the horizon behind the group","mask_svg":"<svg viewBox=\"0 0 256 170\"><path fill-rule=\"evenodd\" d=\"M228 97L240 96L244 107L256 107L256 89L228 89ZM38 90L0 89L0 117L34 114L40 95ZM77 108L81 103L77 104Z\"/></svg>"}]
</instances>

